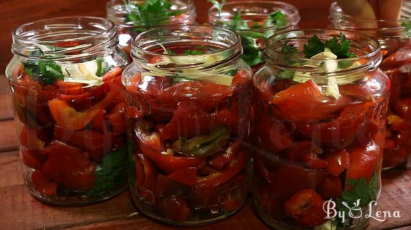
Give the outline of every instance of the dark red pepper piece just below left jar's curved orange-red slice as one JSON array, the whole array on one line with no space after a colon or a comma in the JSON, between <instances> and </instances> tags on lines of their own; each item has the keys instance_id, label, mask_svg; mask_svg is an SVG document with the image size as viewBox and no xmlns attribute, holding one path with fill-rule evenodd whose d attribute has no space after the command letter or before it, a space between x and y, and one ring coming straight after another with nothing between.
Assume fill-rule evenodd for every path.
<instances>
[{"instance_id":1,"label":"dark red pepper piece just below left jar's curved orange-red slice","mask_svg":"<svg viewBox=\"0 0 411 230\"><path fill-rule=\"evenodd\" d=\"M85 149L96 161L100 161L105 154L110 152L114 141L110 132L102 134L101 132L86 129L66 130L60 128L60 126L54 127L54 138Z\"/></svg>"}]
</instances>

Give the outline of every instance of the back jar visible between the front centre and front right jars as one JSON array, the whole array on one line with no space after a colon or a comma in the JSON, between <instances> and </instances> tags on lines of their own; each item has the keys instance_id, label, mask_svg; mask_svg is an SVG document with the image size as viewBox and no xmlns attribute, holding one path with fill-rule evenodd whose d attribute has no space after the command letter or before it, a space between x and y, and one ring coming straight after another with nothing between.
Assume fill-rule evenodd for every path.
<instances>
[{"instance_id":1,"label":"back jar visible between the front centre and front right jars","mask_svg":"<svg viewBox=\"0 0 411 230\"><path fill-rule=\"evenodd\" d=\"M242 59L255 72L264 64L264 43L273 34L299 23L298 9L281 1L234 1L223 5L221 12L212 6L208 23L222 25L241 35Z\"/></svg>"}]
</instances>

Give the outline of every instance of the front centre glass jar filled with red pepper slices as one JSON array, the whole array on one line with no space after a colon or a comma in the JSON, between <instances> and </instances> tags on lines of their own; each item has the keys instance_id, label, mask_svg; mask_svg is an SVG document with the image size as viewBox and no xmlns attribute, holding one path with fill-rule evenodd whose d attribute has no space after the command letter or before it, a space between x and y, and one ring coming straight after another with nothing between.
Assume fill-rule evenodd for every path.
<instances>
[{"instance_id":1,"label":"front centre glass jar filled with red pepper slices","mask_svg":"<svg viewBox=\"0 0 411 230\"><path fill-rule=\"evenodd\" d=\"M130 189L138 209L173 225L202 225L247 197L251 70L222 27L175 25L133 39L123 73ZM134 176L133 176L134 175Z\"/></svg>"}]
</instances>

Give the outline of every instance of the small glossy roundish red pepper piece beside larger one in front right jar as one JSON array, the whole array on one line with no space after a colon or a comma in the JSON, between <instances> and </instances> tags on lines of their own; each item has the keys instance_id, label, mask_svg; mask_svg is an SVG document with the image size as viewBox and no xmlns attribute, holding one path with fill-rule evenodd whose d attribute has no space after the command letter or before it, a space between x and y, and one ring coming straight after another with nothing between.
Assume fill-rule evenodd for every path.
<instances>
[{"instance_id":1,"label":"small glossy roundish red pepper piece beside larger one in front right jar","mask_svg":"<svg viewBox=\"0 0 411 230\"><path fill-rule=\"evenodd\" d=\"M350 156L347 149L341 149L333 153L326 153L323 159L328 162L328 166L325 170L329 174L335 176L340 175L345 169L348 169L350 163Z\"/></svg>"}]
</instances>

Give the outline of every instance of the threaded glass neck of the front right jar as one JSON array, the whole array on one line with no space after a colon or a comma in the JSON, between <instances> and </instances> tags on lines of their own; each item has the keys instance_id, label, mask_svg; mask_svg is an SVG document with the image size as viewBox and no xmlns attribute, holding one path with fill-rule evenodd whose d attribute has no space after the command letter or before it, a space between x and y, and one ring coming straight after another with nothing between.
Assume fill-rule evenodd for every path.
<instances>
[{"instance_id":1,"label":"threaded glass neck of the front right jar","mask_svg":"<svg viewBox=\"0 0 411 230\"><path fill-rule=\"evenodd\" d=\"M308 43L308 39L313 35L325 43L332 38L340 38L340 33L351 41L351 51L357 57L343 59L310 59L304 57L303 46ZM298 52L295 54L285 54L282 52L282 45L292 44ZM340 82L345 82L345 78L364 78L367 72L375 70L382 61L381 48L377 40L366 35L359 35L354 31L343 31L335 29L303 29L279 33L269 38L266 44L266 63L268 66L279 70L294 72L294 76L313 78L315 81L327 79L329 77L340 78ZM327 68L326 66L335 66ZM344 68L343 68L344 66ZM348 79L350 82L355 79Z\"/></svg>"}]
</instances>

